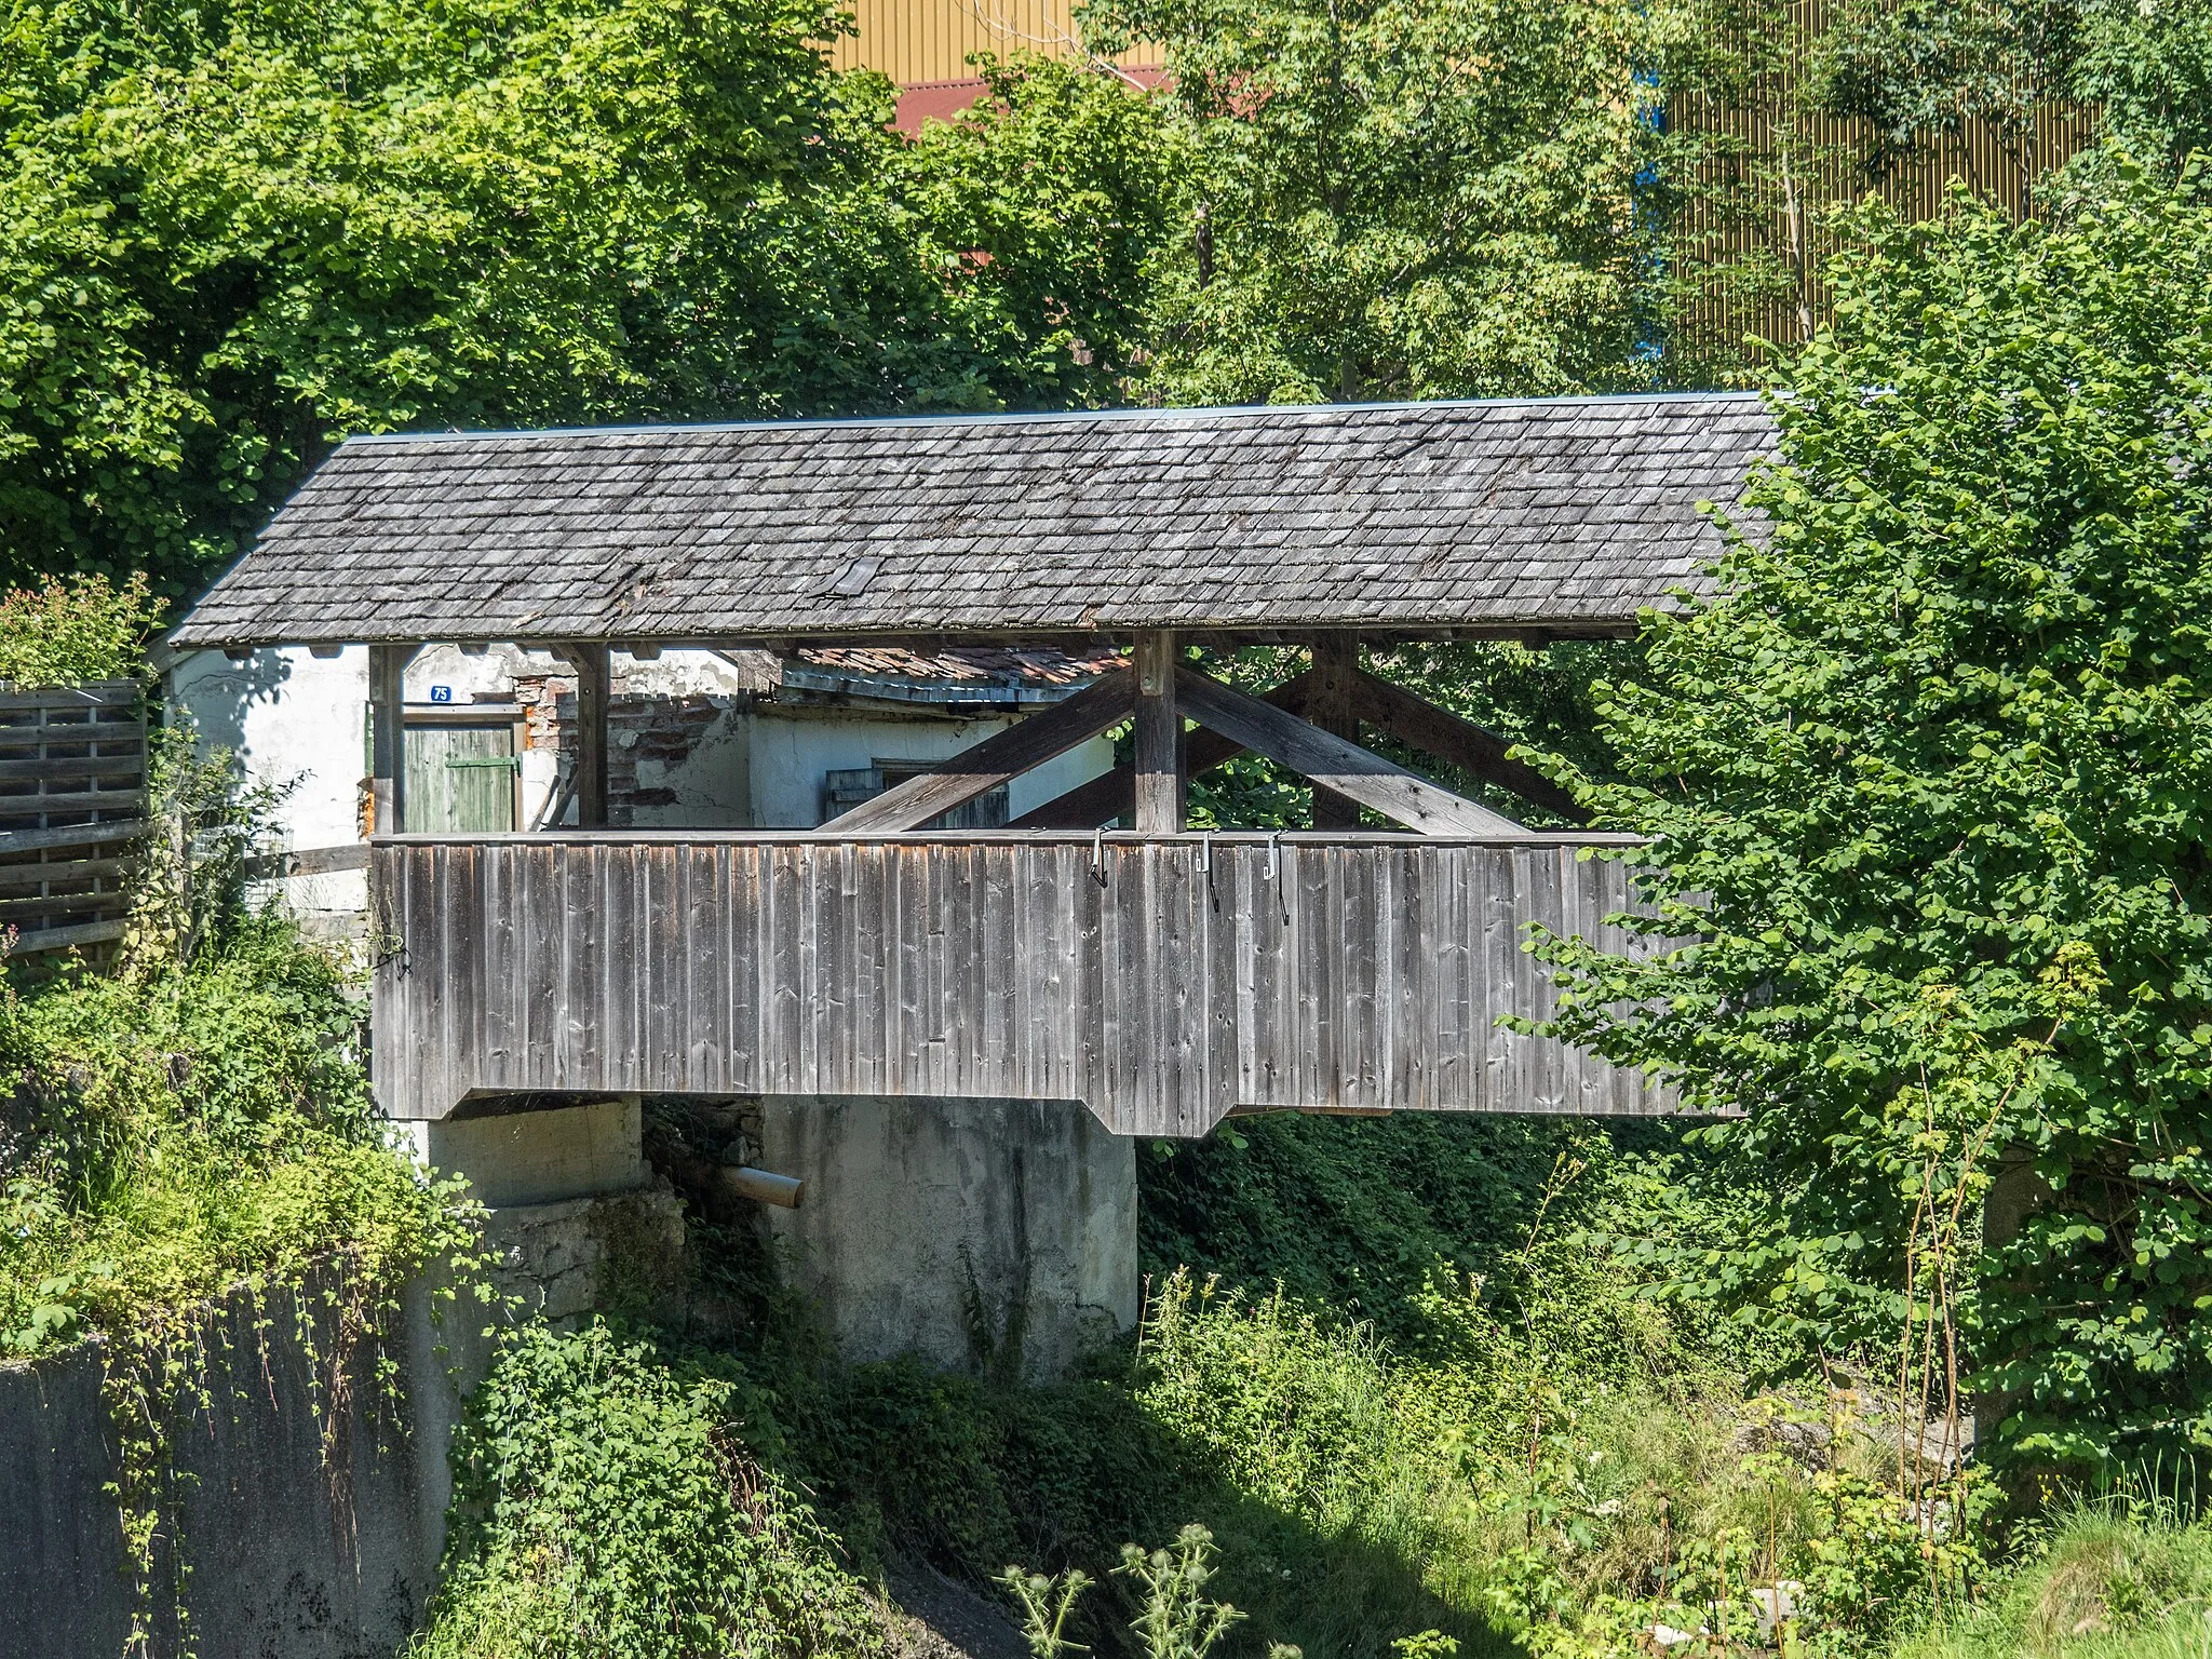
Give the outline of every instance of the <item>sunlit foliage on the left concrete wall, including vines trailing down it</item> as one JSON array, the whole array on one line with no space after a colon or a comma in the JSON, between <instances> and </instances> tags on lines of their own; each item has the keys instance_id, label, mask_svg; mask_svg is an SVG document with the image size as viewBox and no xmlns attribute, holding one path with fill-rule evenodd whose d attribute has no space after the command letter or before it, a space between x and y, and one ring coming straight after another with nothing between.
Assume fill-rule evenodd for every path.
<instances>
[{"instance_id":1,"label":"sunlit foliage on the left concrete wall, including vines trailing down it","mask_svg":"<svg viewBox=\"0 0 2212 1659\"><path fill-rule=\"evenodd\" d=\"M272 918L190 962L0 987L0 1356L102 1340L135 1639L157 1533L188 1571L168 1464L184 1416L217 1405L212 1303L243 1296L261 1340L290 1303L336 1400L389 1387L376 1338L407 1281L434 1263L469 1281L473 1206L387 1144L358 1035L341 969Z\"/></svg>"}]
</instances>

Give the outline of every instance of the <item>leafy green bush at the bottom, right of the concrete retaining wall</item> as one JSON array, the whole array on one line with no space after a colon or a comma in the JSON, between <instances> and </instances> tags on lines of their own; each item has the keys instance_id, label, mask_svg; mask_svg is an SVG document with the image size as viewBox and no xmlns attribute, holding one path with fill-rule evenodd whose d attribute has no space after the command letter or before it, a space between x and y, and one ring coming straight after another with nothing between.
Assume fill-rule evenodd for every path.
<instances>
[{"instance_id":1,"label":"leafy green bush at the bottom, right of the concrete retaining wall","mask_svg":"<svg viewBox=\"0 0 2212 1659\"><path fill-rule=\"evenodd\" d=\"M728 1374L604 1323L507 1334L456 1442L456 1537L414 1659L885 1652L838 1542L745 1451Z\"/></svg>"}]
</instances>

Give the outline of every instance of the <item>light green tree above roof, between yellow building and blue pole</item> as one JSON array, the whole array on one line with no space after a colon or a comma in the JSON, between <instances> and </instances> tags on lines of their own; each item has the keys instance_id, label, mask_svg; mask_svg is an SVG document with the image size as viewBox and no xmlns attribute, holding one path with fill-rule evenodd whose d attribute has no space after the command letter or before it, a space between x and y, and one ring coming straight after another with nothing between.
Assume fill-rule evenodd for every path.
<instances>
[{"instance_id":1,"label":"light green tree above roof, between yellow building and blue pole","mask_svg":"<svg viewBox=\"0 0 2212 1659\"><path fill-rule=\"evenodd\" d=\"M1648 102L1628 0L1102 0L1166 46L1194 186L1157 261L1168 403L1632 378Z\"/></svg>"}]
</instances>

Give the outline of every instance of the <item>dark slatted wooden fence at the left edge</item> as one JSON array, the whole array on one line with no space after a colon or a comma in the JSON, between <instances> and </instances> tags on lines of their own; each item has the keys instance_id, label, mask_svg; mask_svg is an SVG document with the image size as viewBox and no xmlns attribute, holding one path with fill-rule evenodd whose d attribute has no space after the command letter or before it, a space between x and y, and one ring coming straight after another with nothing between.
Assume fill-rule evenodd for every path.
<instances>
[{"instance_id":1,"label":"dark slatted wooden fence at the left edge","mask_svg":"<svg viewBox=\"0 0 2212 1659\"><path fill-rule=\"evenodd\" d=\"M146 818L135 681L0 692L0 927L11 956L122 938Z\"/></svg>"}]
</instances>

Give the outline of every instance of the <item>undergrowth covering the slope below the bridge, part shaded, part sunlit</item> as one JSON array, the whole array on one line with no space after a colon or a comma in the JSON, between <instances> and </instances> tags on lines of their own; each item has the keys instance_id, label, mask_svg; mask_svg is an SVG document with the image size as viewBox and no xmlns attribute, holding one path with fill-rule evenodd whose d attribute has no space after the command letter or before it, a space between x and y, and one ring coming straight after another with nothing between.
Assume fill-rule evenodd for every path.
<instances>
[{"instance_id":1,"label":"undergrowth covering the slope below the bridge, part shaded, part sunlit","mask_svg":"<svg viewBox=\"0 0 2212 1659\"><path fill-rule=\"evenodd\" d=\"M1190 1562L1219 1659L1871 1655L1982 1571L1847 1394L1648 1294L1624 1239L1728 1221L1668 1208L1663 1135L1234 1128L1148 1155L1144 1327L1048 1387L838 1365L695 1217L717 1329L511 1343L416 1659L872 1652L896 1557L1106 1657Z\"/></svg>"}]
</instances>

